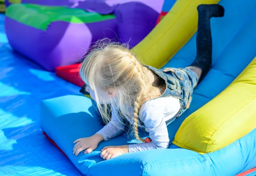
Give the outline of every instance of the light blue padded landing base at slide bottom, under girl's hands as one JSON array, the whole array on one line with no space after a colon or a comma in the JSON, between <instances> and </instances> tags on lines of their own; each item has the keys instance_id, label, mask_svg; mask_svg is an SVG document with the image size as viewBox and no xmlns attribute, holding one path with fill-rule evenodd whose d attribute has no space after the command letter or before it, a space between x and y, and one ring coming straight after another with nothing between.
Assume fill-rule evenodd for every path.
<instances>
[{"instance_id":1,"label":"light blue padded landing base at slide bottom, under girl's hands","mask_svg":"<svg viewBox=\"0 0 256 176\"><path fill-rule=\"evenodd\" d=\"M79 156L75 156L72 151L73 141L91 136L102 128L94 105L89 98L79 95L49 99L41 104L43 130L50 137L54 137L56 144L86 176L112 176L119 173L125 176L155 176L158 173L177 176L185 173L191 176L209 173L212 176L234 176L238 172L250 169L256 163L256 145L251 142L256 140L256 129L226 148L205 155L170 145L169 149L125 153L103 161L100 157L100 150L103 147L131 142L123 134L99 143L98 148L92 153L85 155L81 152Z\"/></svg>"}]
</instances>

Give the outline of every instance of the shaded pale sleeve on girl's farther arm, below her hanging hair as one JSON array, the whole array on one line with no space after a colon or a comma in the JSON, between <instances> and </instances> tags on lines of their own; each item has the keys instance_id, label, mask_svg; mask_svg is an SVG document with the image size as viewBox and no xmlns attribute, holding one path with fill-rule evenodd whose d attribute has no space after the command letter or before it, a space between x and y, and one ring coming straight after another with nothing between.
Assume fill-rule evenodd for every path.
<instances>
[{"instance_id":1,"label":"shaded pale sleeve on girl's farther arm, below her hanging hair","mask_svg":"<svg viewBox=\"0 0 256 176\"><path fill-rule=\"evenodd\" d=\"M111 110L111 121L96 133L102 135L105 141L120 135L125 129L122 117L112 106Z\"/></svg>"}]
</instances>

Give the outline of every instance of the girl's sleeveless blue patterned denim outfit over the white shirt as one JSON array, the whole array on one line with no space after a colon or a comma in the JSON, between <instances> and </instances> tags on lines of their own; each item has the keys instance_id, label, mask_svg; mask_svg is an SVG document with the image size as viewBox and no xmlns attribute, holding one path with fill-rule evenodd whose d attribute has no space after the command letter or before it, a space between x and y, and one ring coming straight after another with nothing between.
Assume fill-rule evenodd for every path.
<instances>
[{"instance_id":1,"label":"girl's sleeveless blue patterned denim outfit over the white shirt","mask_svg":"<svg viewBox=\"0 0 256 176\"><path fill-rule=\"evenodd\" d=\"M189 108L191 96L198 83L198 75L189 68L161 68L144 65L161 77L167 85L165 92L160 97L175 97L180 99L180 111L176 117L180 116L184 110ZM157 97L159 98L159 97Z\"/></svg>"}]
</instances>

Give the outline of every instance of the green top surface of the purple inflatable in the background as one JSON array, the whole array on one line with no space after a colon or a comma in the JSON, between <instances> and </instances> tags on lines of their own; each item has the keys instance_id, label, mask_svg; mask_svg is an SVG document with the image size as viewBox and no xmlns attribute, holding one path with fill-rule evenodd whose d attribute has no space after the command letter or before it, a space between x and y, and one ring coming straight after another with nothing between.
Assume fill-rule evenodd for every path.
<instances>
[{"instance_id":1,"label":"green top surface of the purple inflatable in the background","mask_svg":"<svg viewBox=\"0 0 256 176\"><path fill-rule=\"evenodd\" d=\"M61 6L39 6L35 4L12 4L7 9L6 16L44 31L54 21L94 23L115 18L113 14L101 15L82 9L70 9Z\"/></svg>"}]
</instances>

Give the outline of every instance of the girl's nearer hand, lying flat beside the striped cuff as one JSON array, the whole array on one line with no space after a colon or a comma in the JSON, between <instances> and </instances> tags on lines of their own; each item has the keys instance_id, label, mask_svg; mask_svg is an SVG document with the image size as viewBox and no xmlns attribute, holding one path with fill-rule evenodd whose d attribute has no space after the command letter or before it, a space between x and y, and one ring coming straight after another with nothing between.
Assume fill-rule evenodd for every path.
<instances>
[{"instance_id":1,"label":"girl's nearer hand, lying flat beside the striped cuff","mask_svg":"<svg viewBox=\"0 0 256 176\"><path fill-rule=\"evenodd\" d=\"M107 160L114 158L116 156L122 155L124 153L129 153L128 145L119 145L119 146L108 146L102 149L100 156Z\"/></svg>"}]
</instances>

